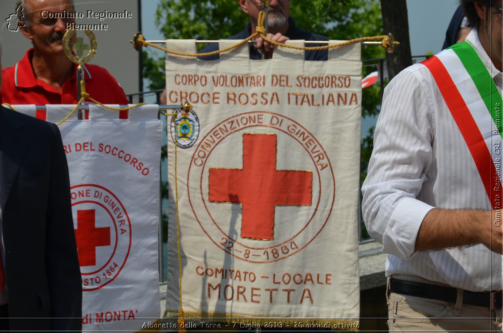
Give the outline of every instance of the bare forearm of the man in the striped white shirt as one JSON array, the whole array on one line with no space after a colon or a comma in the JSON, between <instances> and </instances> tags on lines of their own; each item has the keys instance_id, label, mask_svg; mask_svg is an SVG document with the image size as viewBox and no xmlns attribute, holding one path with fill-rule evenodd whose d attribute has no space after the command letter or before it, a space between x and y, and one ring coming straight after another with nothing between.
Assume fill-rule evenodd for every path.
<instances>
[{"instance_id":1,"label":"bare forearm of the man in the striped white shirt","mask_svg":"<svg viewBox=\"0 0 503 333\"><path fill-rule=\"evenodd\" d=\"M417 233L414 251L430 251L481 243L502 254L503 223L499 212L432 209ZM500 224L500 225L498 225Z\"/></svg>"}]
</instances>

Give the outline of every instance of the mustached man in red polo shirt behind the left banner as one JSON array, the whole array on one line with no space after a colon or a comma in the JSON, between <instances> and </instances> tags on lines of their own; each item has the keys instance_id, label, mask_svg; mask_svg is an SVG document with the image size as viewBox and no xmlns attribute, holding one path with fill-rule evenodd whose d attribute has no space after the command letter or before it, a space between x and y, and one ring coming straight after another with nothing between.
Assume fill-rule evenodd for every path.
<instances>
[{"instance_id":1,"label":"mustached man in red polo shirt behind the left banner","mask_svg":"<svg viewBox=\"0 0 503 333\"><path fill-rule=\"evenodd\" d=\"M51 19L51 13L74 12L72 0L18 0L28 27L21 30L31 39L33 48L14 66L3 69L4 84L0 102L10 104L76 104L76 64L63 52L62 38L66 23L74 19ZM84 65L86 92L104 104L128 104L117 80L97 65ZM93 104L86 101L86 104ZM121 115L122 116L122 115ZM45 114L37 113L38 118ZM121 117L123 118L123 117Z\"/></svg>"}]
</instances>

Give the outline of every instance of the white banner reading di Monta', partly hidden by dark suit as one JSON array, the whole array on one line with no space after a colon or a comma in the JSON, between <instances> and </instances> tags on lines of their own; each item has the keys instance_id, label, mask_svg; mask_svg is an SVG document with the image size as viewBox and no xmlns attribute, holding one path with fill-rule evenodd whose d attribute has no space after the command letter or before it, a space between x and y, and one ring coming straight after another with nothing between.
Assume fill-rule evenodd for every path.
<instances>
[{"instance_id":1,"label":"white banner reading di Monta', partly hidden by dark suit","mask_svg":"<svg viewBox=\"0 0 503 333\"><path fill-rule=\"evenodd\" d=\"M47 105L47 121L61 121L73 107ZM157 105L141 106L129 110L129 119L119 119L118 111L91 105L89 120L77 120L75 112L59 125L70 173L84 331L139 331L160 316L157 111Z\"/></svg>"}]
</instances>

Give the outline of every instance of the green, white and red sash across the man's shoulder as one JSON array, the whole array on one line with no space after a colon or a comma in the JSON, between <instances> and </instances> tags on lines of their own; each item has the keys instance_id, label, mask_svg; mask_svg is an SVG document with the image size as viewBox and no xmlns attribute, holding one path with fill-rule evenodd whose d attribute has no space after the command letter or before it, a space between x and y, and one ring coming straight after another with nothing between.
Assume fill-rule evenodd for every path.
<instances>
[{"instance_id":1,"label":"green, white and red sash across the man's shoulder","mask_svg":"<svg viewBox=\"0 0 503 333\"><path fill-rule=\"evenodd\" d=\"M462 42L422 62L432 73L475 161L493 209L501 206L501 95L475 49Z\"/></svg>"}]
</instances>

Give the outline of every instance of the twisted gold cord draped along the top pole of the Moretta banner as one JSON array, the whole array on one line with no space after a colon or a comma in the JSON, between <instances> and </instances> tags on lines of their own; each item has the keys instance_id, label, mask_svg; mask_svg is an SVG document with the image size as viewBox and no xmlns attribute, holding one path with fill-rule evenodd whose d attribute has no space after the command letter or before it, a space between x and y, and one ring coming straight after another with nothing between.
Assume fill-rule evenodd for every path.
<instances>
[{"instance_id":1,"label":"twisted gold cord draped along the top pole of the Moretta banner","mask_svg":"<svg viewBox=\"0 0 503 333\"><path fill-rule=\"evenodd\" d=\"M266 15L265 15L265 13L263 11L261 11L259 13L259 19L258 19L258 23L257 23L257 28L255 29L256 32L254 34L252 34L251 36L249 36L246 39L243 39L243 40L239 41L238 43L236 43L236 44L234 44L232 46L226 47L226 48L221 49L221 50L212 51L212 52L206 52L206 53L184 53L184 52L173 51L173 50L167 49L165 47L162 47L162 46L155 45L153 43L147 42L145 40L145 37L143 37L143 35L140 34L140 33L137 33L135 35L135 37L131 41L131 43L135 46L135 48L137 50L139 50L139 48L142 47L142 46L152 46L152 47L155 47L155 48L157 48L159 50L162 50L164 52L167 52L167 53L172 53L172 54L181 55L181 56L188 56L188 57L205 57L205 56L209 56L209 55L219 54L219 53L228 51L230 49L233 49L235 47L238 47L238 46L240 46L240 45L242 45L244 43L247 43L249 40L255 38L256 36L262 37L262 39L264 39L266 42L269 42L269 43L271 43L273 45L284 46L284 47L288 47L288 48L292 48L292 49L297 49L297 50L307 50L307 51L327 50L327 49L338 47L338 46L344 46L344 45L349 45L349 44L359 43L359 42L364 42L364 41L376 41L376 40L381 40L382 39L382 46L386 50L388 50L389 52L392 52L394 46L396 46L396 45L399 44L399 42L393 40L392 36L382 35L382 36L373 36L373 37L360 37L360 38L351 39L351 40L348 40L348 41L345 41L345 42L341 42L341 43L337 43L337 44L333 44L333 45L324 45L324 46L307 47L307 46L286 45L286 44L283 44L283 43L279 43L279 42L273 41L273 40L271 40L271 39L269 39L269 38L266 37L266 28L264 27L265 19L266 19Z\"/></svg>"}]
</instances>

